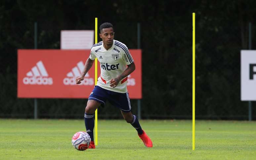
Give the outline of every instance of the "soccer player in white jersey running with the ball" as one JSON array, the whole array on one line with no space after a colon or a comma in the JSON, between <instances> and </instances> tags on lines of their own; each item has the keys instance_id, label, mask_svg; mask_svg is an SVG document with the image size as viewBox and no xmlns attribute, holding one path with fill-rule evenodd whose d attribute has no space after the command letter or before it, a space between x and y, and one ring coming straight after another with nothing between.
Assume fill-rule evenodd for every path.
<instances>
[{"instance_id":1,"label":"soccer player in white jersey running with the ball","mask_svg":"<svg viewBox=\"0 0 256 160\"><path fill-rule=\"evenodd\" d=\"M95 148L93 129L94 113L100 105L108 100L112 105L120 108L127 123L130 123L138 132L145 146L152 147L152 141L142 130L138 118L132 114L129 94L127 92L127 76L135 70L135 64L128 48L123 43L114 40L114 29L111 23L100 26L102 42L93 45L89 58L86 60L83 73L76 78L80 84L85 74L91 68L95 58L101 64L101 75L97 85L89 96L84 113L86 132L91 137L89 148ZM126 65L128 66L126 68Z\"/></svg>"}]
</instances>

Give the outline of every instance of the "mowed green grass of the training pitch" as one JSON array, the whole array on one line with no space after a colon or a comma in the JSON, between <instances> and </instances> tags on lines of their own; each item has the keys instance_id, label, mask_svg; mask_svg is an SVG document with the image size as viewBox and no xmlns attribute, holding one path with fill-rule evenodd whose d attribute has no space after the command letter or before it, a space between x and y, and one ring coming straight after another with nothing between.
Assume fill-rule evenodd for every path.
<instances>
[{"instance_id":1,"label":"mowed green grass of the training pitch","mask_svg":"<svg viewBox=\"0 0 256 160\"><path fill-rule=\"evenodd\" d=\"M78 151L72 136L84 120L0 119L0 159L256 159L256 122L141 120L153 141L146 148L124 120L99 120L96 149Z\"/></svg>"}]
</instances>

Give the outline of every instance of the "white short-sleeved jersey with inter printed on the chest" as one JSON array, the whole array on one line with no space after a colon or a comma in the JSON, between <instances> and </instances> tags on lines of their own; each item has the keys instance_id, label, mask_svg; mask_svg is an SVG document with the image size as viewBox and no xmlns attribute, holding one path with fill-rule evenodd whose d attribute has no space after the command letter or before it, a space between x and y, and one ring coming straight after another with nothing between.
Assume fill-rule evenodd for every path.
<instances>
[{"instance_id":1,"label":"white short-sleeved jersey with inter printed on the chest","mask_svg":"<svg viewBox=\"0 0 256 160\"><path fill-rule=\"evenodd\" d=\"M109 91L127 92L128 77L122 79L115 88L110 87L110 80L122 74L126 65L133 63L132 56L125 44L113 40L112 47L106 50L101 41L93 45L89 58L91 60L97 58L101 64L101 75L98 78L97 86Z\"/></svg>"}]
</instances>

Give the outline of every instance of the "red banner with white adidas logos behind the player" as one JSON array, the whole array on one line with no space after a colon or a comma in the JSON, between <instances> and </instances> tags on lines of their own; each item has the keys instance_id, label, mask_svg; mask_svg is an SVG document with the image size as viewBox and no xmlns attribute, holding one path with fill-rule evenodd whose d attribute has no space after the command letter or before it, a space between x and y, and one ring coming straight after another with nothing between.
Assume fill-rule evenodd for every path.
<instances>
[{"instance_id":1,"label":"red banner with white adidas logos behind the player","mask_svg":"<svg viewBox=\"0 0 256 160\"><path fill-rule=\"evenodd\" d=\"M130 99L142 98L141 50L129 50L136 65L128 76ZM90 50L18 50L19 98L88 98L94 88L95 65L77 85ZM100 64L98 62L98 77Z\"/></svg>"}]
</instances>

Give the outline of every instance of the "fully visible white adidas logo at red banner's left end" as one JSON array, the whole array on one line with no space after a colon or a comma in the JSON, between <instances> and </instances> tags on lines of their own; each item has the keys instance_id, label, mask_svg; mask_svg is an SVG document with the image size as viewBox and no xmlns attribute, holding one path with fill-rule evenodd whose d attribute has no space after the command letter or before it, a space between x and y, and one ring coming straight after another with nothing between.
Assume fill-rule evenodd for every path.
<instances>
[{"instance_id":1,"label":"fully visible white adidas logo at red banner's left end","mask_svg":"<svg viewBox=\"0 0 256 160\"><path fill-rule=\"evenodd\" d=\"M48 73L40 60L32 67L31 71L27 72L26 77L23 78L23 83L28 85L52 85L53 79L48 77Z\"/></svg>"}]
</instances>

